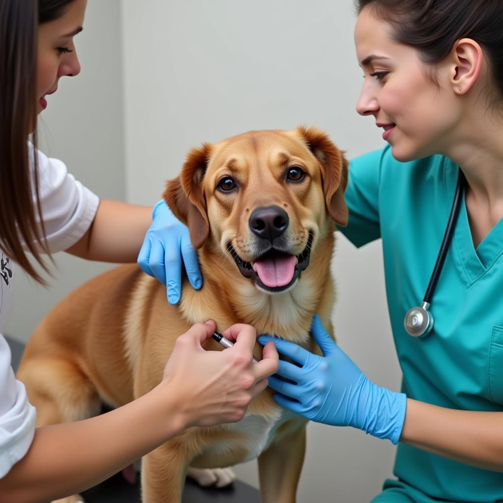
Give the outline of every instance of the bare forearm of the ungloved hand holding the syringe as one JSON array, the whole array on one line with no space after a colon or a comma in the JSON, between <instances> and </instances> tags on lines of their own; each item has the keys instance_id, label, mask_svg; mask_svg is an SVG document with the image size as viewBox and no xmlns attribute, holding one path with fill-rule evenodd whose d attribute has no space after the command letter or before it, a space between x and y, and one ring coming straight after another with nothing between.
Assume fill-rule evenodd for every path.
<instances>
[{"instance_id":1,"label":"bare forearm of the ungloved hand holding the syringe","mask_svg":"<svg viewBox=\"0 0 503 503\"><path fill-rule=\"evenodd\" d=\"M89 420L37 429L26 456L0 479L0 503L50 501L77 493L180 433L185 427L178 412L181 400L167 402L162 386Z\"/></svg>"}]
</instances>

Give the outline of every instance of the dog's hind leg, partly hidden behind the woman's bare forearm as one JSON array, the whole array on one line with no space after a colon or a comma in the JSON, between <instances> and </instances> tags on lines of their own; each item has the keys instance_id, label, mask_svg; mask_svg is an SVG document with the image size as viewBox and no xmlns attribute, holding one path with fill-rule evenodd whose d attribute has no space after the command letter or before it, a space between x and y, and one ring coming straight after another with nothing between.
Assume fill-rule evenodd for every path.
<instances>
[{"instance_id":1,"label":"dog's hind leg, partly hidden behind the woman's bare forearm","mask_svg":"<svg viewBox=\"0 0 503 503\"><path fill-rule=\"evenodd\" d=\"M71 361L32 358L20 367L17 378L25 384L30 403L37 409L37 428L79 421L100 412L94 386ZM83 501L75 494L57 503Z\"/></svg>"}]
</instances>

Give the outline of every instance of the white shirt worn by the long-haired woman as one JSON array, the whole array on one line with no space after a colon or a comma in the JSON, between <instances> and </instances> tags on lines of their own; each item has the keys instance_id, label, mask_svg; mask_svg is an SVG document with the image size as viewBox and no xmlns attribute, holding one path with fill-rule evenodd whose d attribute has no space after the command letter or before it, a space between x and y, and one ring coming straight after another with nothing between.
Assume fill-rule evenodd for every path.
<instances>
[{"instance_id":1,"label":"white shirt worn by the long-haired woman","mask_svg":"<svg viewBox=\"0 0 503 503\"><path fill-rule=\"evenodd\" d=\"M30 144L30 148L31 144ZM63 162L37 152L39 197L51 253L69 248L89 229L99 199L70 175ZM14 263L0 250L0 332L14 298ZM27 453L35 433L36 412L11 366L11 351L0 333L0 478Z\"/></svg>"}]
</instances>

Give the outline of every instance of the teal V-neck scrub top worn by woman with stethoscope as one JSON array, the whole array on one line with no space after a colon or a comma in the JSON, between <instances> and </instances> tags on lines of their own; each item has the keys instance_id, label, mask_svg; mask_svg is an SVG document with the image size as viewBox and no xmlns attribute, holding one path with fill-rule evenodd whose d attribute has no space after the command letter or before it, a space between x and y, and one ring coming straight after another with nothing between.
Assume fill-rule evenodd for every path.
<instances>
[{"instance_id":1,"label":"teal V-neck scrub top worn by woman with stethoscope","mask_svg":"<svg viewBox=\"0 0 503 503\"><path fill-rule=\"evenodd\" d=\"M503 412L503 220L474 248L463 203L434 292L433 331L410 337L403 318L421 305L451 211L458 166L435 155L398 162L389 146L350 163L349 223L357 246L382 238L386 294L402 391L452 409ZM503 414L500 432L503 435ZM432 498L503 500L503 473L400 443L394 474Z\"/></svg>"}]
</instances>

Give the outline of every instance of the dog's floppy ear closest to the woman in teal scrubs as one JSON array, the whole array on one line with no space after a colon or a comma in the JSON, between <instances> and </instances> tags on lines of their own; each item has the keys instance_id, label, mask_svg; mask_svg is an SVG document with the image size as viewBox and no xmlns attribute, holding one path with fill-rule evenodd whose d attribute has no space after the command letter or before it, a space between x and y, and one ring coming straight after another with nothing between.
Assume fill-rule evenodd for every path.
<instances>
[{"instance_id":1,"label":"dog's floppy ear closest to the woman in teal scrubs","mask_svg":"<svg viewBox=\"0 0 503 503\"><path fill-rule=\"evenodd\" d=\"M297 132L321 165L321 179L328 214L338 224L347 225L348 207L344 200L344 191L348 185L348 161L344 152L319 129L300 126Z\"/></svg>"}]
</instances>

